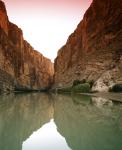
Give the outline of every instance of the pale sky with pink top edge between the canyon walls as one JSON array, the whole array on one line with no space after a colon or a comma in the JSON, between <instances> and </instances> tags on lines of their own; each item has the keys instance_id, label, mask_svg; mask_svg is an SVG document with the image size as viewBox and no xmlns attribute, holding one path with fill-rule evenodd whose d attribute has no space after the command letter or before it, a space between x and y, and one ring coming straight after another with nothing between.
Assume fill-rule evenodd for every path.
<instances>
[{"instance_id":1,"label":"pale sky with pink top edge between the canyon walls","mask_svg":"<svg viewBox=\"0 0 122 150\"><path fill-rule=\"evenodd\" d=\"M52 62L92 2L92 0L3 1L9 20L23 30L24 39Z\"/></svg>"}]
</instances>

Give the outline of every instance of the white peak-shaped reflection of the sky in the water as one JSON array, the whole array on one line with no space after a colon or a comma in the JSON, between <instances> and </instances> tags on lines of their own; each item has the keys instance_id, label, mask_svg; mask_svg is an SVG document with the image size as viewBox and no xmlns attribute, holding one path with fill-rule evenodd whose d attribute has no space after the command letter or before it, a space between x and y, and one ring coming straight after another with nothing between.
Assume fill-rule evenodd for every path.
<instances>
[{"instance_id":1,"label":"white peak-shaped reflection of the sky in the water","mask_svg":"<svg viewBox=\"0 0 122 150\"><path fill-rule=\"evenodd\" d=\"M53 119L23 143L22 150L71 150L56 129Z\"/></svg>"}]
</instances>

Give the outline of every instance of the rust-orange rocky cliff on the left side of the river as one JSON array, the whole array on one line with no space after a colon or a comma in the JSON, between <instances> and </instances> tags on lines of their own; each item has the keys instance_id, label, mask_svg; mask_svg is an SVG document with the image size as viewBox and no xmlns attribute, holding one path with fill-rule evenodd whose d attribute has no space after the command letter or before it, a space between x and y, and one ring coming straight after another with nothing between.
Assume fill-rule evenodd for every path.
<instances>
[{"instance_id":1,"label":"rust-orange rocky cliff on the left side of the river","mask_svg":"<svg viewBox=\"0 0 122 150\"><path fill-rule=\"evenodd\" d=\"M51 61L24 40L0 1L0 91L48 88L53 73Z\"/></svg>"}]
</instances>

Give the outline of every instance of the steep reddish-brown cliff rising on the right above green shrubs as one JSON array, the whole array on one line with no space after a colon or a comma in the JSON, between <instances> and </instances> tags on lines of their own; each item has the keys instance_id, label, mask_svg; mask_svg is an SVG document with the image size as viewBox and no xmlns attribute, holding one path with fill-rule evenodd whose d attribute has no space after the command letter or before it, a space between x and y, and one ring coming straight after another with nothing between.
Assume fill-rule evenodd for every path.
<instances>
[{"instance_id":1,"label":"steep reddish-brown cliff rising on the right above green shrubs","mask_svg":"<svg viewBox=\"0 0 122 150\"><path fill-rule=\"evenodd\" d=\"M122 77L122 0L93 0L55 59L55 86L94 80L105 91Z\"/></svg>"}]
</instances>

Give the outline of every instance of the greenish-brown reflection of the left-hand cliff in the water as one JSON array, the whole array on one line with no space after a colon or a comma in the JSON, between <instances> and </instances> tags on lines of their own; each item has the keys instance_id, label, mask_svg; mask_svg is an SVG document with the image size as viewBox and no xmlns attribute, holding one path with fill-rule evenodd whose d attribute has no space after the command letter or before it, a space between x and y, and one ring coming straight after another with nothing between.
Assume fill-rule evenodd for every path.
<instances>
[{"instance_id":1,"label":"greenish-brown reflection of the left-hand cliff in the water","mask_svg":"<svg viewBox=\"0 0 122 150\"><path fill-rule=\"evenodd\" d=\"M45 94L0 97L0 150L21 150L22 142L52 118Z\"/></svg>"}]
</instances>

